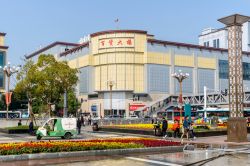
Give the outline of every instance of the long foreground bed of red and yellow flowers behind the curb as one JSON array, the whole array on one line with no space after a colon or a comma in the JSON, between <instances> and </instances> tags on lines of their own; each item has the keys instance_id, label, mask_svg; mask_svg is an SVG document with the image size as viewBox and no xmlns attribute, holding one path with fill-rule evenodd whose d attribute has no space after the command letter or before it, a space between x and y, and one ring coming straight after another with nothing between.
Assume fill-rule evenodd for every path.
<instances>
[{"instance_id":1,"label":"long foreground bed of red and yellow flowers behind the curb","mask_svg":"<svg viewBox=\"0 0 250 166\"><path fill-rule=\"evenodd\" d=\"M116 138L80 141L50 141L0 144L0 155L19 155L44 152L71 152L104 149L127 149L159 146L179 146L179 142L150 138Z\"/></svg>"}]
</instances>

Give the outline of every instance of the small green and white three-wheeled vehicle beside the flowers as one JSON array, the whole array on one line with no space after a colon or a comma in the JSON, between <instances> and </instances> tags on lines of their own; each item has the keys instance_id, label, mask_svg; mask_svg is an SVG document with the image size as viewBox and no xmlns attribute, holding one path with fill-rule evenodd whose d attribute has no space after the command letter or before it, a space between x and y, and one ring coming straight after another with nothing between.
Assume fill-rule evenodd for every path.
<instances>
[{"instance_id":1,"label":"small green and white three-wheeled vehicle beside the flowers","mask_svg":"<svg viewBox=\"0 0 250 166\"><path fill-rule=\"evenodd\" d=\"M70 139L76 135L76 118L50 118L36 132L37 140L40 140L42 137Z\"/></svg>"}]
</instances>

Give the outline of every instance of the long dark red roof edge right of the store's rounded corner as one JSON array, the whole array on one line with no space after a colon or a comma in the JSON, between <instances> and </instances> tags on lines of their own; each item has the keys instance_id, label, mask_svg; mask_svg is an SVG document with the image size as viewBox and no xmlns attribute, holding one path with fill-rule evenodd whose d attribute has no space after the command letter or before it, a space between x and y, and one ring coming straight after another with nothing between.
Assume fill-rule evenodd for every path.
<instances>
[{"instance_id":1,"label":"long dark red roof edge right of the store's rounded corner","mask_svg":"<svg viewBox=\"0 0 250 166\"><path fill-rule=\"evenodd\" d=\"M163 45L173 45L173 46L182 46L182 47L188 47L188 48L197 48L197 49L203 49L208 51L221 51L221 52L228 52L228 49L225 48L214 48L214 47L205 47L201 45L195 45L195 44L188 44L188 43L178 43L178 42L171 42L171 41L163 41L163 40L157 40L157 39L148 39L149 43L157 43L157 44L163 44ZM242 51L242 54L250 55L250 52Z\"/></svg>"}]
</instances>

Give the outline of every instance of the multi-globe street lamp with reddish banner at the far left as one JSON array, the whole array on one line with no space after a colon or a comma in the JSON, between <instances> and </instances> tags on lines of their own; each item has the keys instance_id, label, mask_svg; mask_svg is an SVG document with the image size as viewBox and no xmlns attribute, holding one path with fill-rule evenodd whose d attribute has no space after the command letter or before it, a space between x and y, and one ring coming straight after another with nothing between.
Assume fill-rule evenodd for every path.
<instances>
[{"instance_id":1,"label":"multi-globe street lamp with reddish banner at the far left","mask_svg":"<svg viewBox=\"0 0 250 166\"><path fill-rule=\"evenodd\" d=\"M7 76L7 92L5 93L6 98L6 106L7 106L7 112L6 112L6 119L9 118L8 112L9 112L9 105L11 103L11 93L10 91L10 77L19 71L19 66L10 66L10 62L8 62L7 65L5 65L3 68L0 66L0 70L4 72L4 74Z\"/></svg>"}]
</instances>

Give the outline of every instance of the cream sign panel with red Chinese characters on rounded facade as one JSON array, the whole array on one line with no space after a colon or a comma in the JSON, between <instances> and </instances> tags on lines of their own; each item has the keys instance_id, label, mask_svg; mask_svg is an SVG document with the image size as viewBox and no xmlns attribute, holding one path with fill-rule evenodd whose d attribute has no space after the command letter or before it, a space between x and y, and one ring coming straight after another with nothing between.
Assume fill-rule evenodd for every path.
<instances>
[{"instance_id":1,"label":"cream sign panel with red Chinese characters on rounded facade","mask_svg":"<svg viewBox=\"0 0 250 166\"><path fill-rule=\"evenodd\" d=\"M134 47L134 38L106 38L99 39L99 49L114 47Z\"/></svg>"}]
</instances>

